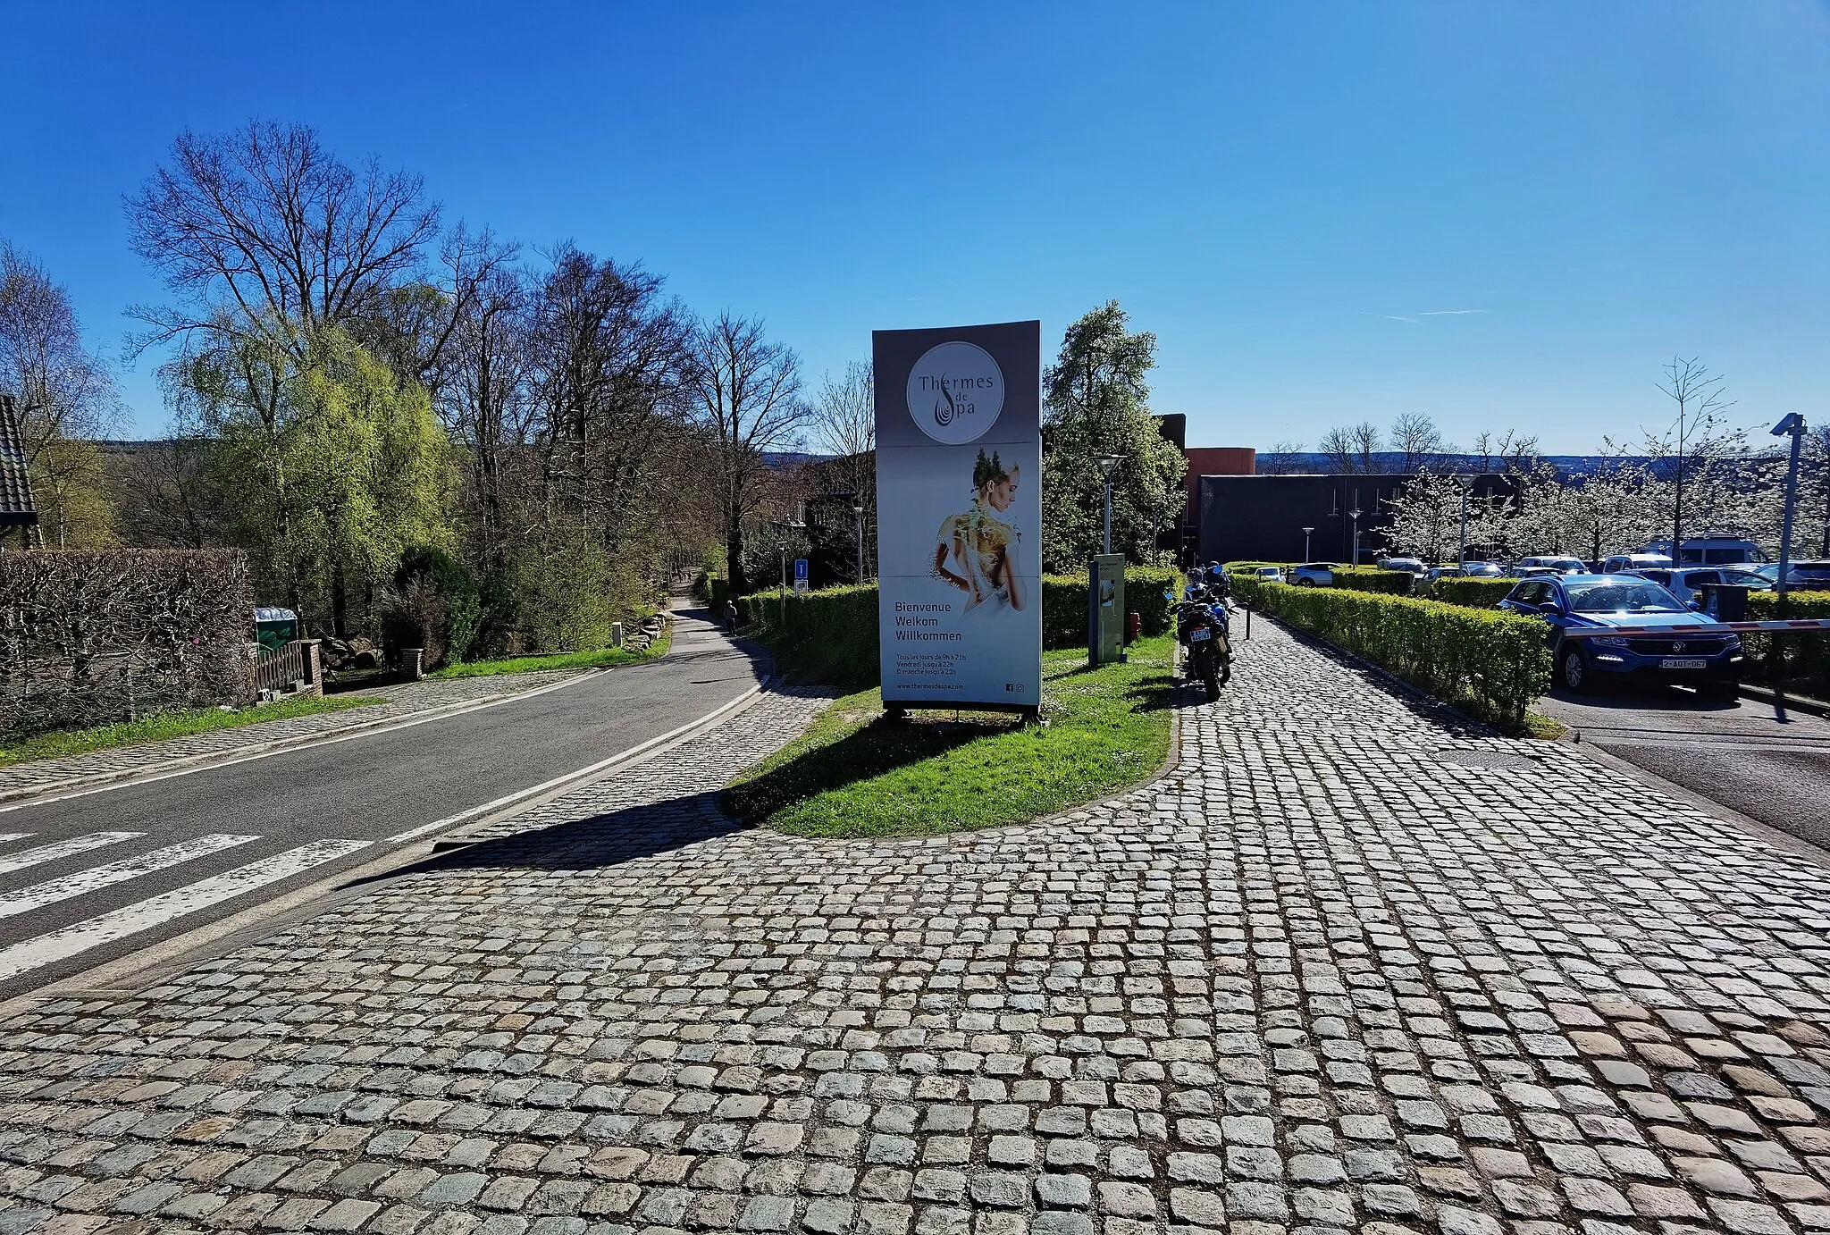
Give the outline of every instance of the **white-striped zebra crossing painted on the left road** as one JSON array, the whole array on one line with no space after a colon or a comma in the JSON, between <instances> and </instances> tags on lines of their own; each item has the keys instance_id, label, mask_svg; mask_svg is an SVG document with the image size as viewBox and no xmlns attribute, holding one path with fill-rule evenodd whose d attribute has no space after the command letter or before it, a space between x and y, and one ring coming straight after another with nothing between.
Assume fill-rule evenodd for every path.
<instances>
[{"instance_id":1,"label":"white-striped zebra crossing painted on the left road","mask_svg":"<svg viewBox=\"0 0 1830 1235\"><path fill-rule=\"evenodd\" d=\"M81 957L102 944L156 931L188 915L339 862L377 843L373 840L315 840L245 865L210 869L220 867L223 860L232 862L238 849L264 838L240 832L207 832L152 849L135 845L135 842L146 843L146 832L137 831L84 832L38 845L29 845L31 840L33 832L0 832L0 983ZM27 847L16 847L20 843ZM137 851L117 856L130 849ZM33 867L46 867L82 854L93 854L101 862L26 882L38 875ZM104 887L132 884L174 869L201 875L201 878L112 909L101 909L93 900L93 895ZM27 875L16 875L22 871ZM18 886L7 887L7 884ZM22 939L16 918L29 913L62 913L68 920Z\"/></svg>"}]
</instances>

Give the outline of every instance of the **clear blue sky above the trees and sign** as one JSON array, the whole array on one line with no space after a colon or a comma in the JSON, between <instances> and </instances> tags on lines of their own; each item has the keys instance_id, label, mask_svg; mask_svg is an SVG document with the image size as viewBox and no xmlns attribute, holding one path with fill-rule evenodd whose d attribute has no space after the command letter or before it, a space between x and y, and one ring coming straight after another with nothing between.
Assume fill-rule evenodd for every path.
<instances>
[{"instance_id":1,"label":"clear blue sky above the trees and sign","mask_svg":"<svg viewBox=\"0 0 1830 1235\"><path fill-rule=\"evenodd\" d=\"M640 260L813 377L875 328L1116 296L1191 445L1427 412L1557 452L1830 413L1830 7L0 4L0 236L97 346L183 128L315 124L450 220ZM24 51L24 55L20 55ZM165 423L152 364L130 430Z\"/></svg>"}]
</instances>

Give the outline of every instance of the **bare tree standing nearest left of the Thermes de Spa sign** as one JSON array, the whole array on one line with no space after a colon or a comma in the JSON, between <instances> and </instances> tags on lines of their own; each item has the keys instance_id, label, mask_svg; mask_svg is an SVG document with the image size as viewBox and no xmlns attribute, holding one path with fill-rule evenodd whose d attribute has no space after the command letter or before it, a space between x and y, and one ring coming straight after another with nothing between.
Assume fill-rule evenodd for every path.
<instances>
[{"instance_id":1,"label":"bare tree standing nearest left of the Thermes de Spa sign","mask_svg":"<svg viewBox=\"0 0 1830 1235\"><path fill-rule=\"evenodd\" d=\"M800 359L769 342L759 318L725 311L694 331L692 388L716 452L725 569L741 591L743 523L765 496L765 454L789 446L811 417L800 399Z\"/></svg>"}]
</instances>

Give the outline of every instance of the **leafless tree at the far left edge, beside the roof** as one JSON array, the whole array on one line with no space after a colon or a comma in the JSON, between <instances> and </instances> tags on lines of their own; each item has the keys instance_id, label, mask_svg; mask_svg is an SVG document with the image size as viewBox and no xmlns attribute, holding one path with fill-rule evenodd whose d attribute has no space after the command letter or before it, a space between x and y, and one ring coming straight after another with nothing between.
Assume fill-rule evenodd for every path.
<instances>
[{"instance_id":1,"label":"leafless tree at the far left edge, beside the roof","mask_svg":"<svg viewBox=\"0 0 1830 1235\"><path fill-rule=\"evenodd\" d=\"M82 344L70 293L0 240L0 392L18 399L40 532L59 549L113 536L102 456L119 423L108 364Z\"/></svg>"}]
</instances>

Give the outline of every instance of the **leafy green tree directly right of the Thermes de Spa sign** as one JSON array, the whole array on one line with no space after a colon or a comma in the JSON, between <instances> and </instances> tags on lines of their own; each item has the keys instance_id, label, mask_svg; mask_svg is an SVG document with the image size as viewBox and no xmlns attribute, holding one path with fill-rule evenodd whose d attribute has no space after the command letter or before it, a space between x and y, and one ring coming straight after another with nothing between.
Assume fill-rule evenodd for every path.
<instances>
[{"instance_id":1,"label":"leafy green tree directly right of the Thermes de Spa sign","mask_svg":"<svg viewBox=\"0 0 1830 1235\"><path fill-rule=\"evenodd\" d=\"M1182 512L1186 461L1149 412L1146 377L1157 337L1129 333L1116 300L1067 328L1043 373L1043 569L1078 569L1100 551L1105 474L1100 456L1125 456L1113 472L1113 553L1155 556L1151 525L1173 527Z\"/></svg>"}]
</instances>

